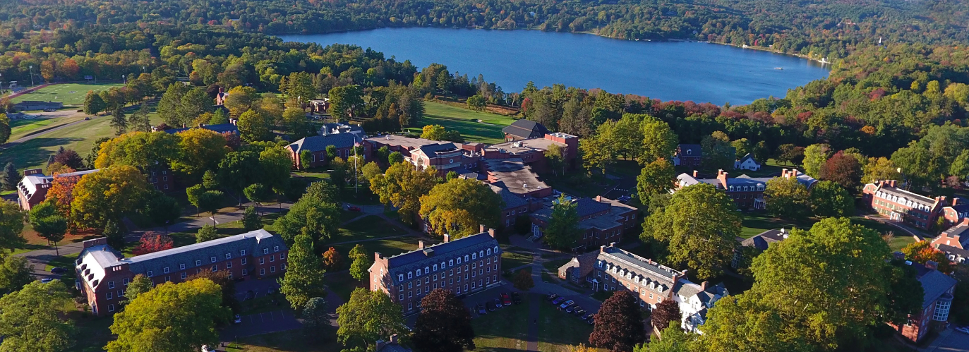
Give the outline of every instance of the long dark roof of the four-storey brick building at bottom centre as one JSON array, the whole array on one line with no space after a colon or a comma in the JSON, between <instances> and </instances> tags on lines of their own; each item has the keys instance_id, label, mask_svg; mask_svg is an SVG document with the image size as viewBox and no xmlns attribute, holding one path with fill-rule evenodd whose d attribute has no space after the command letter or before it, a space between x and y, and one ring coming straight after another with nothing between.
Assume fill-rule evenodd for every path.
<instances>
[{"instance_id":1,"label":"long dark roof of the four-storey brick building at bottom centre","mask_svg":"<svg viewBox=\"0 0 969 352\"><path fill-rule=\"evenodd\" d=\"M426 246L423 249L416 249L410 252L397 254L387 259L388 271L391 273L391 280L394 285L401 281L398 274L414 271L424 267L433 267L434 264L444 263L449 260L470 255L471 252L492 249L494 252L501 252L498 240L495 240L487 232L471 235L457 240ZM407 278L405 278L406 280Z\"/></svg>"}]
</instances>

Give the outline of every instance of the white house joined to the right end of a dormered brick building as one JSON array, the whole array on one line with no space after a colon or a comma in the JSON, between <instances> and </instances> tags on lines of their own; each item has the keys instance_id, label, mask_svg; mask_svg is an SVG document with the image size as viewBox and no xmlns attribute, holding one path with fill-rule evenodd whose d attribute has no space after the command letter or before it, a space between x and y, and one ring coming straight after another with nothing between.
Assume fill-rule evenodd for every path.
<instances>
[{"instance_id":1,"label":"white house joined to the right end of a dormered brick building","mask_svg":"<svg viewBox=\"0 0 969 352\"><path fill-rule=\"evenodd\" d=\"M703 334L699 328L706 322L706 311L717 301L730 295L723 283L711 286L703 281L698 285L686 278L676 282L673 292L673 300L679 304L679 311L683 315L680 327L698 334Z\"/></svg>"}]
</instances>

